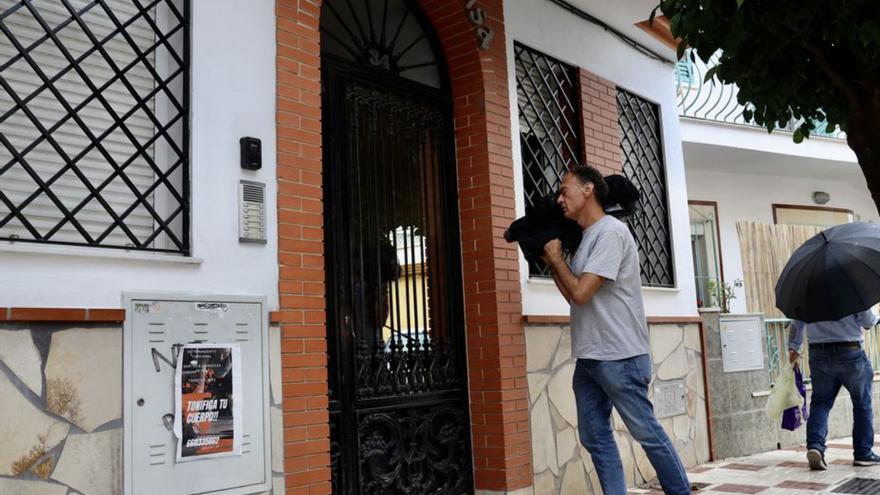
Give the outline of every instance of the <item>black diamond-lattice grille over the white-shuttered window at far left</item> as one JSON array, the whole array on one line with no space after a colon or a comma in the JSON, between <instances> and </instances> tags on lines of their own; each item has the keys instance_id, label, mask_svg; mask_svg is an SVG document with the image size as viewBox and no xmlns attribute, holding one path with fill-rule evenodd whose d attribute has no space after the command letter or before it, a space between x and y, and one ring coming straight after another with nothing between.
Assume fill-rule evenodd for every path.
<instances>
[{"instance_id":1,"label":"black diamond-lattice grille over the white-shuttered window at far left","mask_svg":"<svg viewBox=\"0 0 880 495\"><path fill-rule=\"evenodd\" d=\"M0 0L0 239L189 253L185 0Z\"/></svg>"}]
</instances>

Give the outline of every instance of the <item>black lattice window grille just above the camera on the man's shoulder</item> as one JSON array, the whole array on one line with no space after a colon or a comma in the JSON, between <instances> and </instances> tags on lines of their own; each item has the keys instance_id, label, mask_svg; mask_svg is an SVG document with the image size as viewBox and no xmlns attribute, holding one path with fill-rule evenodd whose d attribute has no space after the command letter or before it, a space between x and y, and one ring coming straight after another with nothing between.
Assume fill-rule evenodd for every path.
<instances>
[{"instance_id":1,"label":"black lattice window grille just above the camera on the man's shoulder","mask_svg":"<svg viewBox=\"0 0 880 495\"><path fill-rule=\"evenodd\" d=\"M556 192L580 163L582 124L577 69L520 43L514 44L520 148L526 205ZM543 263L529 275L550 276Z\"/></svg>"}]
</instances>

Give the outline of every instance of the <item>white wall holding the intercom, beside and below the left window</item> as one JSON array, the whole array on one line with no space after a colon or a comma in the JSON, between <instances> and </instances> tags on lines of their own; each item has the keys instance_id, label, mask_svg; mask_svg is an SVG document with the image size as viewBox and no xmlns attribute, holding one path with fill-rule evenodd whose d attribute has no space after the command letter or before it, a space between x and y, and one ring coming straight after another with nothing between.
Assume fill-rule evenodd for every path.
<instances>
[{"instance_id":1,"label":"white wall holding the intercom, beside and below the left window","mask_svg":"<svg viewBox=\"0 0 880 495\"><path fill-rule=\"evenodd\" d=\"M109 307L123 291L264 295L278 307L275 207L275 3L192 5L192 258L0 243L0 306ZM242 136L263 168L239 166ZM265 182L267 245L238 242L238 181Z\"/></svg>"}]
</instances>

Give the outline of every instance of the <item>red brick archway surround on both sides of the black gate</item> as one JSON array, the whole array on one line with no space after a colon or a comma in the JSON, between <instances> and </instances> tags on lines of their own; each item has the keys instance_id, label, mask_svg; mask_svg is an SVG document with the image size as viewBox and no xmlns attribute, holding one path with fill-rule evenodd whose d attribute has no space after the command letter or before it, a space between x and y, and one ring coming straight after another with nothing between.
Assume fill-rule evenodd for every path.
<instances>
[{"instance_id":1,"label":"red brick archway surround on both sides of the black gate","mask_svg":"<svg viewBox=\"0 0 880 495\"><path fill-rule=\"evenodd\" d=\"M477 490L532 484L525 342L515 246L501 0L478 1L494 38L480 50L465 1L421 0L454 98L468 377ZM330 493L319 0L278 0L277 179L284 470L288 494Z\"/></svg>"}]
</instances>

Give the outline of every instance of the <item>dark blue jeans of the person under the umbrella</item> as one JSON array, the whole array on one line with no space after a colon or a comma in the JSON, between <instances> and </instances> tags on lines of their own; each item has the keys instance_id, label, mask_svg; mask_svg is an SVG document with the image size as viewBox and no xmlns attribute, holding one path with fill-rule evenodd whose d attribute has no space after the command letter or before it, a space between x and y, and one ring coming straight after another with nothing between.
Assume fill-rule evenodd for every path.
<instances>
[{"instance_id":1,"label":"dark blue jeans of the person under the umbrella","mask_svg":"<svg viewBox=\"0 0 880 495\"><path fill-rule=\"evenodd\" d=\"M862 349L810 349L813 396L807 419L807 448L825 452L828 413L842 385L853 403L853 456L864 459L874 445L871 384L874 370Z\"/></svg>"}]
</instances>

